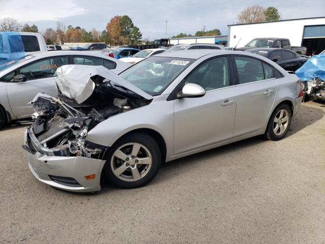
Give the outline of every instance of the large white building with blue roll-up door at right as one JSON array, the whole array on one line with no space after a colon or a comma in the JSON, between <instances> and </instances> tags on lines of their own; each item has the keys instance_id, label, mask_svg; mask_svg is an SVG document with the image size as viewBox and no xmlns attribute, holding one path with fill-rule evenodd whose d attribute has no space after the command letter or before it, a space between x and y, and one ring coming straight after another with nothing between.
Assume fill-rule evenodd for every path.
<instances>
[{"instance_id":1,"label":"large white building with blue roll-up door at right","mask_svg":"<svg viewBox=\"0 0 325 244\"><path fill-rule=\"evenodd\" d=\"M291 46L307 47L307 55L325 49L325 17L228 25L230 47L243 47L254 38L287 38Z\"/></svg>"}]
</instances>

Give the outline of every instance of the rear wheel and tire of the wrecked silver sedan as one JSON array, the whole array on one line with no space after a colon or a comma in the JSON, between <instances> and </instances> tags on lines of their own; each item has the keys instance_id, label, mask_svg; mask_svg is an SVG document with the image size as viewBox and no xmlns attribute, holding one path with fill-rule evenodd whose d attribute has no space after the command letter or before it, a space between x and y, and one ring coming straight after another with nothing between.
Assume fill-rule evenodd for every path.
<instances>
[{"instance_id":1,"label":"rear wheel and tire of the wrecked silver sedan","mask_svg":"<svg viewBox=\"0 0 325 244\"><path fill-rule=\"evenodd\" d=\"M266 130L266 137L278 141L285 137L291 124L292 112L287 104L280 104L273 111ZM282 128L282 129L281 129Z\"/></svg>"}]
</instances>

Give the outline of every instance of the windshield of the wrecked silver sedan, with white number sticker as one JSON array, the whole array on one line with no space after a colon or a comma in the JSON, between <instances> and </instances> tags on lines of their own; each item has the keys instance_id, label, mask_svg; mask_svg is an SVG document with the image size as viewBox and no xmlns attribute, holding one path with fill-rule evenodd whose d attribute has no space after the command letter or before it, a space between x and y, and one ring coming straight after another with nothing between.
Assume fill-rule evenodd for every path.
<instances>
[{"instance_id":1,"label":"windshield of the wrecked silver sedan, with white number sticker","mask_svg":"<svg viewBox=\"0 0 325 244\"><path fill-rule=\"evenodd\" d=\"M144 92L160 95L195 59L151 56L119 75Z\"/></svg>"}]
</instances>

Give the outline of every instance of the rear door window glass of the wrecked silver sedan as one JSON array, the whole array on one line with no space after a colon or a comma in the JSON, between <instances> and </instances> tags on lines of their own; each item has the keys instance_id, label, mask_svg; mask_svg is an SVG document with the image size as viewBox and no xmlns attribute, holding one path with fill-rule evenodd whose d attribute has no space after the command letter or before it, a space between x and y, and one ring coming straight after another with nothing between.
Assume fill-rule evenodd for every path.
<instances>
[{"instance_id":1,"label":"rear door window glass of the wrecked silver sedan","mask_svg":"<svg viewBox=\"0 0 325 244\"><path fill-rule=\"evenodd\" d=\"M239 84L264 80L264 72L262 62L258 59L235 56L235 64L237 67Z\"/></svg>"}]
</instances>

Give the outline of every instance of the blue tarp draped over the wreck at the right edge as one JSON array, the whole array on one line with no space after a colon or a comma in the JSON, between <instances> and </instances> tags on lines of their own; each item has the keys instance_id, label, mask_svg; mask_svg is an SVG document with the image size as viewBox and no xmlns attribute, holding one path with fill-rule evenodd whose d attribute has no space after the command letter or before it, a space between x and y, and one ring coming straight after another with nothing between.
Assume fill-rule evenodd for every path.
<instances>
[{"instance_id":1,"label":"blue tarp draped over the wreck at the right edge","mask_svg":"<svg viewBox=\"0 0 325 244\"><path fill-rule=\"evenodd\" d=\"M325 54L319 54L311 57L296 71L296 75L302 81L309 81L312 78L325 80Z\"/></svg>"}]
</instances>

